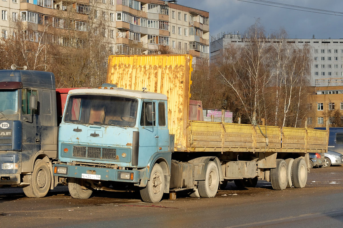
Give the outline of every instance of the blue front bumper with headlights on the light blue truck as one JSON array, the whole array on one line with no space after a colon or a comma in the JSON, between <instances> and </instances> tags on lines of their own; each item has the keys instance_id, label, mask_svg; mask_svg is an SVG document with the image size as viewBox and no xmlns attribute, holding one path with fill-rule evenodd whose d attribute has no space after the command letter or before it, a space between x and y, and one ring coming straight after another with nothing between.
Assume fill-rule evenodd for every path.
<instances>
[{"instance_id":1,"label":"blue front bumper with headlights on the light blue truck","mask_svg":"<svg viewBox=\"0 0 343 228\"><path fill-rule=\"evenodd\" d=\"M58 167L67 167L67 174L57 173ZM133 173L133 179L120 179L120 173ZM91 174L100 176L99 179L93 180L103 180L103 181L121 181L121 182L131 182L139 183L141 172L139 170L122 170L122 169L109 169L109 168L95 168L87 166L72 166L72 165L54 165L54 176L59 177L74 177L82 178L82 174ZM87 178L84 178L87 179Z\"/></svg>"}]
</instances>

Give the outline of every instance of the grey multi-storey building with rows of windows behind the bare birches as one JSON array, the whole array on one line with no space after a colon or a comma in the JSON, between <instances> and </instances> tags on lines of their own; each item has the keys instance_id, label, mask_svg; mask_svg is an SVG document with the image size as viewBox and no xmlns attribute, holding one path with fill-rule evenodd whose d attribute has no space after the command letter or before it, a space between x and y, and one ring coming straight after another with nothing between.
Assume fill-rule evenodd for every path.
<instances>
[{"instance_id":1,"label":"grey multi-storey building with rows of windows behind the bare birches","mask_svg":"<svg viewBox=\"0 0 343 228\"><path fill-rule=\"evenodd\" d=\"M311 86L343 86L343 39L268 39L272 43L292 43L298 48L310 45L310 75L306 75ZM210 61L223 58L223 50L230 44L245 45L247 40L240 34L222 34L211 40Z\"/></svg>"}]
</instances>

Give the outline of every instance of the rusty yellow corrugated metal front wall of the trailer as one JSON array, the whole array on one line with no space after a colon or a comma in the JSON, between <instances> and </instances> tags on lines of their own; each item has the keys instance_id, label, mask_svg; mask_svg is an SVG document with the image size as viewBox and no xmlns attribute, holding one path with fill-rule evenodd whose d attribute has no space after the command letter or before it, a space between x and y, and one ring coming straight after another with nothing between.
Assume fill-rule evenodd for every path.
<instances>
[{"instance_id":1,"label":"rusty yellow corrugated metal front wall of the trailer","mask_svg":"<svg viewBox=\"0 0 343 228\"><path fill-rule=\"evenodd\" d=\"M192 71L190 55L109 56L107 83L125 89L162 93L168 97L169 134L175 151L187 151L187 124Z\"/></svg>"}]
</instances>

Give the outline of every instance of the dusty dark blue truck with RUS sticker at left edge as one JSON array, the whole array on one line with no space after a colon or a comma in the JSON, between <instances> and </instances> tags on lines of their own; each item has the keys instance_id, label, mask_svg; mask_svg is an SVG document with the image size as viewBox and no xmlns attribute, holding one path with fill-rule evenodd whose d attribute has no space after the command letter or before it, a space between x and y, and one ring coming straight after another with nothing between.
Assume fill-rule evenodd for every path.
<instances>
[{"instance_id":1,"label":"dusty dark blue truck with RUS sticker at left edge","mask_svg":"<svg viewBox=\"0 0 343 228\"><path fill-rule=\"evenodd\" d=\"M51 72L0 70L0 187L43 197L56 186L58 119L69 90L56 91Z\"/></svg>"}]
</instances>

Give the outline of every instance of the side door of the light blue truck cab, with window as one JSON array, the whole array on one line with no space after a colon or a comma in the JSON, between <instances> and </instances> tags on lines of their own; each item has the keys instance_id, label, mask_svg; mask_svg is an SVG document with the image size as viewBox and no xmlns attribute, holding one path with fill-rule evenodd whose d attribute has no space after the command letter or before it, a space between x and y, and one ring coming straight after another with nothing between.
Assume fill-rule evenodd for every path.
<instances>
[{"instance_id":1,"label":"side door of the light blue truck cab, with window","mask_svg":"<svg viewBox=\"0 0 343 228\"><path fill-rule=\"evenodd\" d=\"M143 100L139 124L138 166L146 166L150 157L158 151L158 126L156 126L156 102Z\"/></svg>"}]
</instances>

